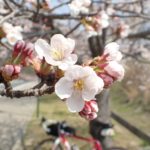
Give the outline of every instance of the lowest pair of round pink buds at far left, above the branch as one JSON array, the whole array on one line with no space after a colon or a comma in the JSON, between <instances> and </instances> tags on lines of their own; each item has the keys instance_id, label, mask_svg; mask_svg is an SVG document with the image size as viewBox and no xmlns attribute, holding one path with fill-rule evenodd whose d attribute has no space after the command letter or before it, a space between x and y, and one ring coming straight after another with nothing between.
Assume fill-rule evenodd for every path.
<instances>
[{"instance_id":1,"label":"lowest pair of round pink buds at far left, above the branch","mask_svg":"<svg viewBox=\"0 0 150 150\"><path fill-rule=\"evenodd\" d=\"M18 78L21 72L21 67L18 65L5 65L2 69L2 76L5 81L11 81Z\"/></svg>"}]
</instances>

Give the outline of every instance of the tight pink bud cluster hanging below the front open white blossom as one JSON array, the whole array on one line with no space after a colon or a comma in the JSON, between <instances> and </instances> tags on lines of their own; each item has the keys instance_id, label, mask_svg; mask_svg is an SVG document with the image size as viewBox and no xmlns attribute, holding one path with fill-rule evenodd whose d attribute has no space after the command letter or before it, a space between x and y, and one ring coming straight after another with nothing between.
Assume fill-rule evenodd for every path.
<instances>
[{"instance_id":1,"label":"tight pink bud cluster hanging below the front open white blossom","mask_svg":"<svg viewBox=\"0 0 150 150\"><path fill-rule=\"evenodd\" d=\"M98 105L96 100L85 101L84 108L79 115L87 120L93 120L97 117Z\"/></svg>"}]
</instances>

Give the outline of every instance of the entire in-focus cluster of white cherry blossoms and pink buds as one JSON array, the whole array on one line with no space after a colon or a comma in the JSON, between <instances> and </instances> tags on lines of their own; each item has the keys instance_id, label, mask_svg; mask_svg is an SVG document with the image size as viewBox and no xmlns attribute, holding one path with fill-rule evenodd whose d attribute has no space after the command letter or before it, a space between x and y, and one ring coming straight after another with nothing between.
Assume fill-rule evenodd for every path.
<instances>
[{"instance_id":1,"label":"entire in-focus cluster of white cherry blossoms and pink buds","mask_svg":"<svg viewBox=\"0 0 150 150\"><path fill-rule=\"evenodd\" d=\"M34 44L18 41L13 48L10 62L1 69L4 80L16 79L22 67L31 65L40 78L53 78L56 95L65 100L71 112L78 112L88 120L97 116L96 95L114 81L122 80L124 68L117 43L105 46L102 56L88 64L77 65L75 41L61 34L52 36L50 44L38 39ZM49 82L49 81L48 81Z\"/></svg>"}]
</instances>

